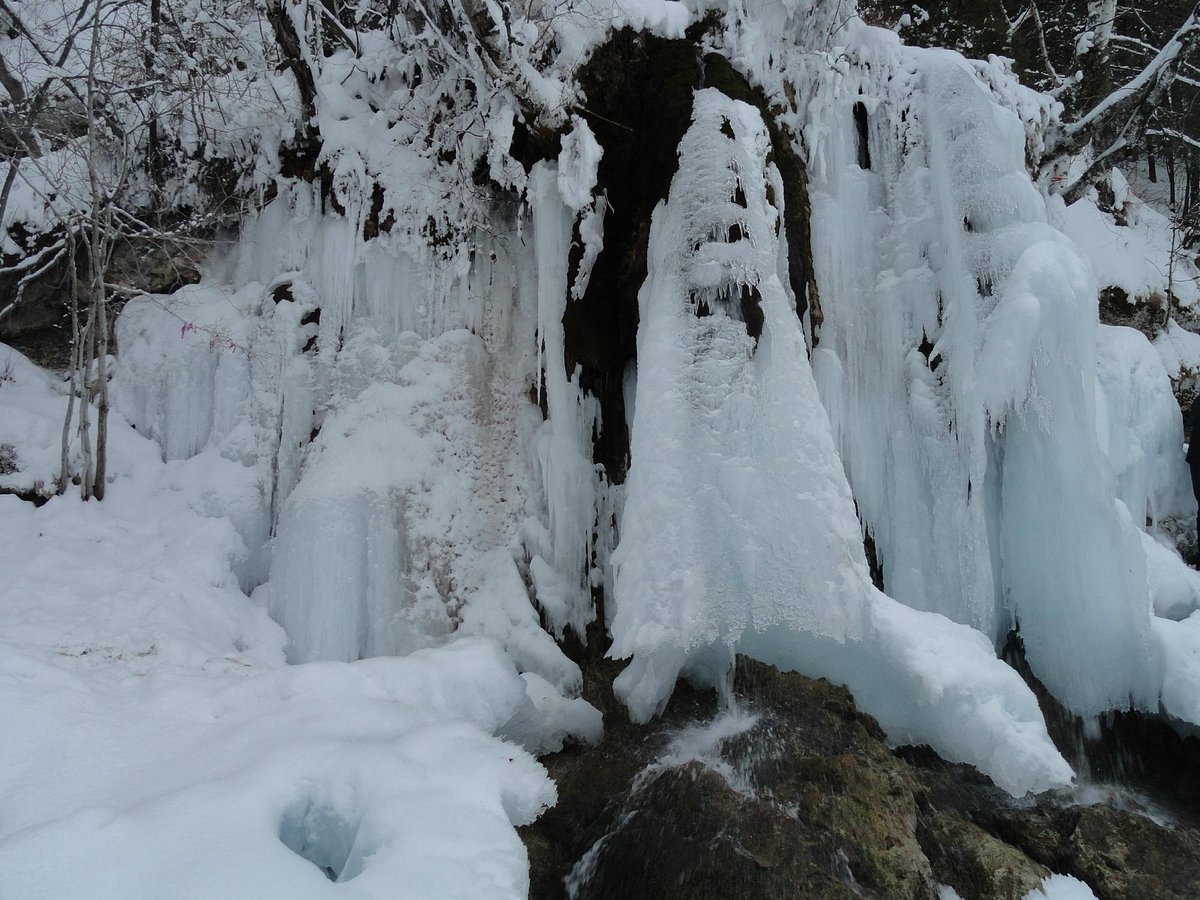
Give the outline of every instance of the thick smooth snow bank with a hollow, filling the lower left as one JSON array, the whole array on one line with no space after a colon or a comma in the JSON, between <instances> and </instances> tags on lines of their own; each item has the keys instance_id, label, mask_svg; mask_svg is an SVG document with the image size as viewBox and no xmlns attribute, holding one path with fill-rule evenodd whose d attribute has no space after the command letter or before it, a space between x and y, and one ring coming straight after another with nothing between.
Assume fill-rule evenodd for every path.
<instances>
[{"instance_id":1,"label":"thick smooth snow bank with a hollow, filling the lower left","mask_svg":"<svg viewBox=\"0 0 1200 900\"><path fill-rule=\"evenodd\" d=\"M62 402L18 366L4 422ZM239 589L244 541L209 515L230 467L253 469L163 463L110 427L103 503L0 496L0 708L20 736L0 749L5 890L524 898L514 827L554 800L529 751L596 737L595 710L485 638L283 665L283 631Z\"/></svg>"}]
</instances>

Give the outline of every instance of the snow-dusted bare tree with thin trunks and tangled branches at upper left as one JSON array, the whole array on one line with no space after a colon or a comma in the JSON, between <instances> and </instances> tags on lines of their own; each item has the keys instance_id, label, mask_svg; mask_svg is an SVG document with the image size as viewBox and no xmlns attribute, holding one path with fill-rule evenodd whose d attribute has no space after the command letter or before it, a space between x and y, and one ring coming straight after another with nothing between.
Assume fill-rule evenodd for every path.
<instances>
[{"instance_id":1,"label":"snow-dusted bare tree with thin trunks and tangled branches at upper left","mask_svg":"<svg viewBox=\"0 0 1200 900\"><path fill-rule=\"evenodd\" d=\"M24 241L0 258L0 274L17 276L12 295L0 301L0 319L29 284L66 268L71 397L59 491L77 481L85 499L101 499L112 304L136 293L113 277L114 253L137 245L169 258L193 247L214 223L240 217L248 193L236 173L239 166L253 168L257 146L253 134L229 127L226 109L242 100L238 90L262 89L253 72L244 73L256 53L263 61L263 50L248 46L230 19L212 18L208 31L181 22L169 0L78 1L47 20L48 5L0 0L10 35L0 47L0 86L7 92L0 102L0 227L10 246ZM247 158L236 158L242 151ZM233 182L227 176L198 190L205 172L222 166L234 172ZM17 191L26 218L10 209ZM32 218L31 206L41 210Z\"/></svg>"}]
</instances>

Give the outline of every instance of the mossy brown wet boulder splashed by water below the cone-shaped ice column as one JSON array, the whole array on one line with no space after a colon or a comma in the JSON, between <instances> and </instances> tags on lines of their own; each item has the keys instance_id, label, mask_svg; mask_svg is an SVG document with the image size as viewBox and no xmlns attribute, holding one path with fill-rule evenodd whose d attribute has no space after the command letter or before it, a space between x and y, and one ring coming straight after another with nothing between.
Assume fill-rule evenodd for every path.
<instances>
[{"instance_id":1,"label":"mossy brown wet boulder splashed by water below the cone-shaped ice column","mask_svg":"<svg viewBox=\"0 0 1200 900\"><path fill-rule=\"evenodd\" d=\"M600 748L546 761L560 800L526 829L530 896L568 895L568 878L576 898L935 896L917 839L925 788L850 692L748 661L736 689L760 715L716 742L720 772L655 762L672 732L712 718L695 691L677 692L665 725L619 724Z\"/></svg>"}]
</instances>

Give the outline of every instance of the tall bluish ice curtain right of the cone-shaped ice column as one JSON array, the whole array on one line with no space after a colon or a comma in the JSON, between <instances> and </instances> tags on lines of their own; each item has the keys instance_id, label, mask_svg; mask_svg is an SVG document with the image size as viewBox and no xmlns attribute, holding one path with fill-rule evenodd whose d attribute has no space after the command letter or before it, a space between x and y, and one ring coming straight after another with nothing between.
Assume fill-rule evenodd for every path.
<instances>
[{"instance_id":1,"label":"tall bluish ice curtain right of the cone-shaped ice column","mask_svg":"<svg viewBox=\"0 0 1200 900\"><path fill-rule=\"evenodd\" d=\"M808 113L816 359L886 589L994 641L1018 628L1079 714L1157 709L1145 552L1115 496L1140 523L1172 487L1132 458L1145 410L1114 404L1146 395L1122 400L1140 389L1118 390L1111 367L1097 440L1096 283L1046 224L1025 128L997 100L1016 107L1021 89L876 29L847 38L840 72L814 67ZM856 104L871 112L869 169ZM1153 455L1168 426L1144 434Z\"/></svg>"}]
</instances>

